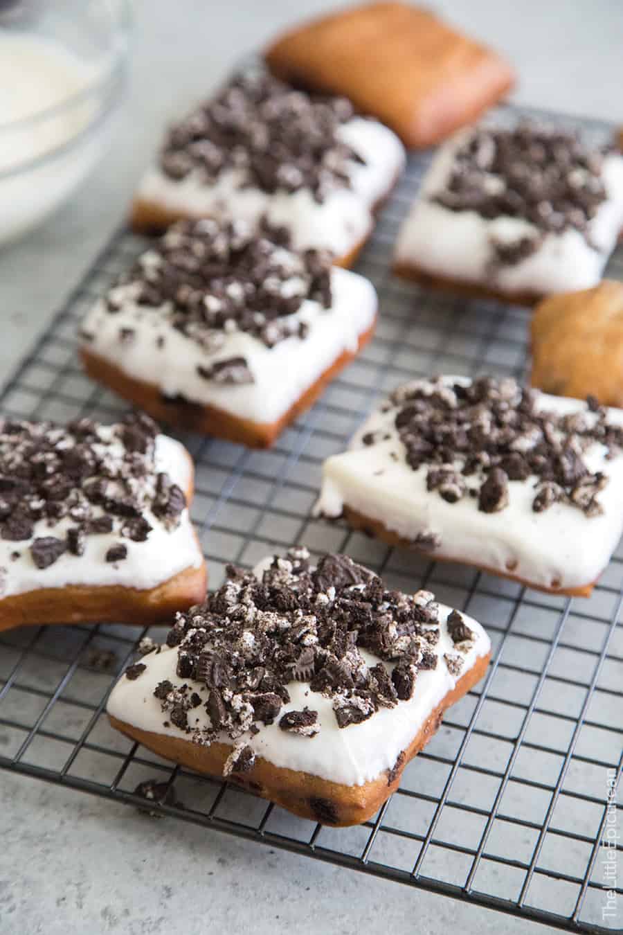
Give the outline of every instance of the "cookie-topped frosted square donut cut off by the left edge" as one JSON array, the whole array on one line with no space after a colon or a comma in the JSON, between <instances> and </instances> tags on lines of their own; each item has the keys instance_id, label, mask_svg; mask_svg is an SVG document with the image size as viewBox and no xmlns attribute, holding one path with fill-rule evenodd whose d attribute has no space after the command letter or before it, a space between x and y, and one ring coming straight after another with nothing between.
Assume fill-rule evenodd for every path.
<instances>
[{"instance_id":1,"label":"cookie-topped frosted square donut cut off by the left edge","mask_svg":"<svg viewBox=\"0 0 623 935\"><path fill-rule=\"evenodd\" d=\"M0 630L153 624L202 600L192 476L145 415L0 420Z\"/></svg>"}]
</instances>

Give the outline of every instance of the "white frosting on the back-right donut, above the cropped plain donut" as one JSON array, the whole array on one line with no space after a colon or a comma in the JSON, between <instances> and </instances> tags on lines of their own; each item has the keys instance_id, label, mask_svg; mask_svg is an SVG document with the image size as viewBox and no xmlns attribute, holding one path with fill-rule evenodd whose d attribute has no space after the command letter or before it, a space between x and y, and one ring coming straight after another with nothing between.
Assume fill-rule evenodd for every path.
<instances>
[{"instance_id":1,"label":"white frosting on the back-right donut, above the cropped plain donut","mask_svg":"<svg viewBox=\"0 0 623 935\"><path fill-rule=\"evenodd\" d=\"M418 201L398 235L395 262L442 278L490 284L507 293L545 295L596 285L623 228L623 157L613 153L603 160L607 200L588 223L588 236L599 251L592 250L575 230L546 234L530 256L500 266L492 276L491 238L514 242L536 233L536 227L509 216L488 220L475 211L451 211L426 200L445 187L454 154L469 136L468 131L453 137L433 159Z\"/></svg>"}]
</instances>

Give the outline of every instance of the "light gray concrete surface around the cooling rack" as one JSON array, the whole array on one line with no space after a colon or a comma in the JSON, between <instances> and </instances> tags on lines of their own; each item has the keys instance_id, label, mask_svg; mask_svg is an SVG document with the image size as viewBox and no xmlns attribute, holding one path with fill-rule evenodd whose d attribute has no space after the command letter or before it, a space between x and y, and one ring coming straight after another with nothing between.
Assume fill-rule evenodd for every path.
<instances>
[{"instance_id":1,"label":"light gray concrete surface around the cooling rack","mask_svg":"<svg viewBox=\"0 0 623 935\"><path fill-rule=\"evenodd\" d=\"M276 28L333 6L136 0L131 90L111 150L71 204L0 254L0 381L120 223L163 123ZM518 101L623 123L619 0L441 0L435 7L511 58ZM0 774L0 841L2 935L537 930L7 774Z\"/></svg>"}]
</instances>

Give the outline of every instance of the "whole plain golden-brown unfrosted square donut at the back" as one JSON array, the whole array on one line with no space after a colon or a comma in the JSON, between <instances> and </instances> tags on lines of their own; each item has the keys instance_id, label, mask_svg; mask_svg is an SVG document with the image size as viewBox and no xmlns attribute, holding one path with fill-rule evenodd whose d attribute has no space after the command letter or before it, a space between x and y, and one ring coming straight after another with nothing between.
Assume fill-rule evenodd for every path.
<instances>
[{"instance_id":1,"label":"whole plain golden-brown unfrosted square donut at the back","mask_svg":"<svg viewBox=\"0 0 623 935\"><path fill-rule=\"evenodd\" d=\"M265 52L279 78L346 94L410 149L474 122L513 86L495 52L403 3L349 7L280 36Z\"/></svg>"}]
</instances>

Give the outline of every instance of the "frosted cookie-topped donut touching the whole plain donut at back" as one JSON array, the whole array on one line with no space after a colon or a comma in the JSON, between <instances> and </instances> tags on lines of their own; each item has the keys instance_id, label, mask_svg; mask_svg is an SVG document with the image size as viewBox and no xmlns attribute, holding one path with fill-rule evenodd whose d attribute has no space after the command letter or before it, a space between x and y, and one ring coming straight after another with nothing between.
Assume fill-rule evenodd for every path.
<instances>
[{"instance_id":1,"label":"frosted cookie-topped donut touching the whole plain donut at back","mask_svg":"<svg viewBox=\"0 0 623 935\"><path fill-rule=\"evenodd\" d=\"M403 166L398 137L346 98L248 68L170 127L132 223L153 231L182 219L265 218L287 227L295 248L350 266Z\"/></svg>"}]
</instances>

